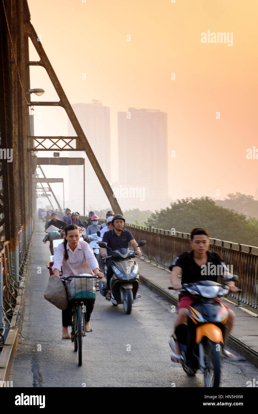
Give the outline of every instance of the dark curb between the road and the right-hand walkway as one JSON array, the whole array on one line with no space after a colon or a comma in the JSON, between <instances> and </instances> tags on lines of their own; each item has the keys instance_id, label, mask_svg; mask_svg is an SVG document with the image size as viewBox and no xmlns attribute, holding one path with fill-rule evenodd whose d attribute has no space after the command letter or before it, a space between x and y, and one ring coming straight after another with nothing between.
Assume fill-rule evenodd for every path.
<instances>
[{"instance_id":1,"label":"dark curb between the road and the right-hand walkway","mask_svg":"<svg viewBox=\"0 0 258 414\"><path fill-rule=\"evenodd\" d=\"M158 295L162 296L162 298L166 299L166 301L173 303L173 305L178 306L178 299L171 296L171 294L169 294L164 289L162 289L158 285L151 282L149 279L146 279L141 274L139 276L140 276L140 282L145 284L149 289L151 289ZM248 359L248 361L253 363L253 365L255 365L258 368L258 352L249 348L246 344L239 341L239 339L236 339L232 335L229 335L227 344L229 345L229 347L234 349L234 351L239 352L239 354L243 355L246 359Z\"/></svg>"}]
</instances>

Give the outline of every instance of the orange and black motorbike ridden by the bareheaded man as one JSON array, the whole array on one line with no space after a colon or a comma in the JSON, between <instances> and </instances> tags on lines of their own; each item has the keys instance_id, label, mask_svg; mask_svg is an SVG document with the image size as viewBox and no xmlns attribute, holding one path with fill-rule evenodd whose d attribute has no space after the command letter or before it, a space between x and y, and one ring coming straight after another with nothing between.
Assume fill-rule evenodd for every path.
<instances>
[{"instance_id":1,"label":"orange and black motorbike ridden by the bareheaded man","mask_svg":"<svg viewBox=\"0 0 258 414\"><path fill-rule=\"evenodd\" d=\"M224 281L236 281L238 276L224 276ZM217 388L220 381L219 352L223 349L226 335L225 324L229 317L223 303L214 300L226 296L229 287L211 280L185 283L177 292L198 296L189 306L188 322L176 327L175 335L181 350L181 365L189 376L200 369L205 387ZM173 289L169 286L169 289ZM176 349L175 337L170 337L169 346Z\"/></svg>"}]
</instances>

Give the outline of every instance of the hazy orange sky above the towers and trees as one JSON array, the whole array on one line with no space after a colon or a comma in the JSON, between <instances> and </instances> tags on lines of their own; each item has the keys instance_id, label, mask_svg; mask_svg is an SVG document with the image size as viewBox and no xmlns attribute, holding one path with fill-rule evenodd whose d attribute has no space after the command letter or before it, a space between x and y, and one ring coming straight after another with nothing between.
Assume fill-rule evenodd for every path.
<instances>
[{"instance_id":1,"label":"hazy orange sky above the towers and trees","mask_svg":"<svg viewBox=\"0 0 258 414\"><path fill-rule=\"evenodd\" d=\"M168 113L172 199L216 197L216 190L218 198L236 191L255 195L258 159L246 159L246 149L258 149L257 0L28 4L31 22L70 103L99 99L110 106L111 182L118 178L117 111L131 106ZM228 33L232 46L229 41L202 43L201 33L208 31ZM31 68L31 87L46 90L37 100L57 99L43 68ZM67 135L62 109L35 108L34 113L36 135Z\"/></svg>"}]
</instances>

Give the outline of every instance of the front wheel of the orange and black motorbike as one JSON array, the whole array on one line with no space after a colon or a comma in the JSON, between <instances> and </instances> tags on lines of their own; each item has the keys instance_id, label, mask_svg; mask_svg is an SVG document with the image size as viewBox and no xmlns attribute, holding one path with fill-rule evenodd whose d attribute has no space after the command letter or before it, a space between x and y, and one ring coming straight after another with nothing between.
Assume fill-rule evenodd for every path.
<instances>
[{"instance_id":1,"label":"front wheel of the orange and black motorbike","mask_svg":"<svg viewBox=\"0 0 258 414\"><path fill-rule=\"evenodd\" d=\"M204 375L204 384L207 388L218 388L220 381L220 344L212 342L205 338L203 342L204 360L206 370Z\"/></svg>"}]
</instances>

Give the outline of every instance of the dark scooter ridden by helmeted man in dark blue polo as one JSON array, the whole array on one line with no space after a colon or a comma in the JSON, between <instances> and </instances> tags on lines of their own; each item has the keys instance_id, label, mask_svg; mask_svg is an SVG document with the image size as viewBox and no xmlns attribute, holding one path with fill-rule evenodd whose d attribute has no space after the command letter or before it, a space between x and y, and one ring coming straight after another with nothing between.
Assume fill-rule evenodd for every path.
<instances>
[{"instance_id":1,"label":"dark scooter ridden by helmeted man in dark blue polo","mask_svg":"<svg viewBox=\"0 0 258 414\"><path fill-rule=\"evenodd\" d=\"M145 241L139 241L138 246L144 246ZM105 243L99 242L99 247L108 248ZM138 297L139 288L139 268L137 262L133 260L135 257L135 250L129 250L121 248L112 251L110 248L110 255L103 260L112 259L111 267L113 270L113 276L110 280L111 299L113 306L117 306L123 303L124 311L127 315L131 313L132 304ZM105 263L105 274L106 274ZM102 296L106 296L108 293L106 287L106 278L99 281L99 291Z\"/></svg>"}]
</instances>

